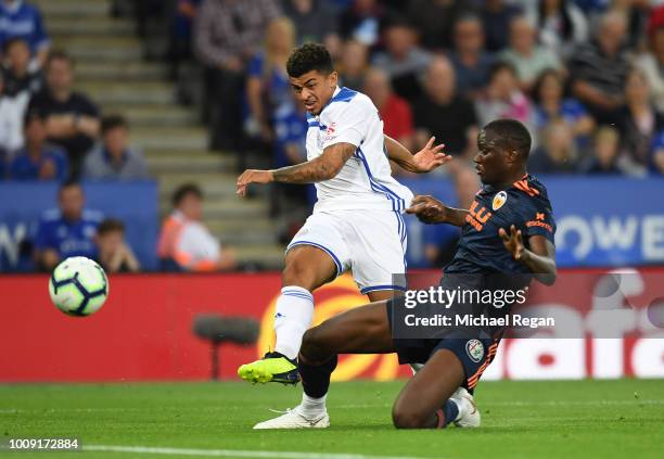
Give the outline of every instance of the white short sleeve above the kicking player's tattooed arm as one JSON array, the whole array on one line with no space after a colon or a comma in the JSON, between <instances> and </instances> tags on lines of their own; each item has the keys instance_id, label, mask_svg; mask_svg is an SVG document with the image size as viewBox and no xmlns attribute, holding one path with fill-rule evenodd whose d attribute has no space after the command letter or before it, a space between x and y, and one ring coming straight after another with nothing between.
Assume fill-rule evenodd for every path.
<instances>
[{"instance_id":1,"label":"white short sleeve above the kicking player's tattooed arm","mask_svg":"<svg viewBox=\"0 0 664 459\"><path fill-rule=\"evenodd\" d=\"M335 143L350 143L359 146L367 137L369 118L379 116L378 111L369 111L368 104L359 101L336 102L345 106L335 107L330 122L323 127L323 150Z\"/></svg>"}]
</instances>

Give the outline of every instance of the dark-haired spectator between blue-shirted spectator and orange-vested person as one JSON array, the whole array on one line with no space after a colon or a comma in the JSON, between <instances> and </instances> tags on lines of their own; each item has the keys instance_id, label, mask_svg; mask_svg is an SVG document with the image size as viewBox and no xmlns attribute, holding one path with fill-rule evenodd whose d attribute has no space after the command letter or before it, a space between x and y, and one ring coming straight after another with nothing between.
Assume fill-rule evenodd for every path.
<instances>
[{"instance_id":1,"label":"dark-haired spectator between blue-shirted spectator and orange-vested person","mask_svg":"<svg viewBox=\"0 0 664 459\"><path fill-rule=\"evenodd\" d=\"M141 265L125 242L125 225L120 220L107 218L99 224L94 235L97 260L107 273L137 272Z\"/></svg>"}]
</instances>

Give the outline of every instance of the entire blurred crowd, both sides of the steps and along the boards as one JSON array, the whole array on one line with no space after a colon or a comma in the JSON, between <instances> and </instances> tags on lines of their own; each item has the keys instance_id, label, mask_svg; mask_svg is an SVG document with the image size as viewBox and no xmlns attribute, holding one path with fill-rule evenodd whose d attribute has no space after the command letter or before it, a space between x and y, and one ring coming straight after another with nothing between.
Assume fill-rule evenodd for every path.
<instances>
[{"instance_id":1,"label":"entire blurred crowd, both sides of the steps and along the boards","mask_svg":"<svg viewBox=\"0 0 664 459\"><path fill-rule=\"evenodd\" d=\"M115 0L112 13L122 14L126 3ZM446 144L458 161L439 174L451 176L460 202L477 186L467 163L478 128L497 117L529 128L535 174L664 173L664 5L656 0L131 3L145 40L161 18L156 34L168 39L164 59L178 87L189 79L184 65L201 69L209 146L235 152L241 168L256 151L274 167L305 160L305 112L291 92L285 62L295 46L319 41L333 55L341 85L373 100L386 135L411 151L430 136ZM0 180L64 183L59 218L66 220L65 201L81 192L73 191L78 180L149 177L127 120L74 90L75 62L51 47L36 7L0 0ZM184 184L178 192L161 255L180 269L233 267L232 253L222 256L200 222L200 189ZM310 205L307 193L301 187L271 193L272 215L285 219L291 233ZM110 269L139 269L123 242L122 221L101 222L81 206L69 216L79 226L72 231L94 244L97 258L116 267ZM48 229L51 217L39 226L44 234L56 232ZM168 241L169 231L197 234L203 242L182 246L215 255L183 253ZM50 269L66 254L53 258L47 248L55 242L48 245L44 234L34 241L35 259ZM113 243L100 242L104 234ZM430 264L444 263L440 254L449 251L440 247L454 237L423 235L432 241L425 244Z\"/></svg>"}]
</instances>

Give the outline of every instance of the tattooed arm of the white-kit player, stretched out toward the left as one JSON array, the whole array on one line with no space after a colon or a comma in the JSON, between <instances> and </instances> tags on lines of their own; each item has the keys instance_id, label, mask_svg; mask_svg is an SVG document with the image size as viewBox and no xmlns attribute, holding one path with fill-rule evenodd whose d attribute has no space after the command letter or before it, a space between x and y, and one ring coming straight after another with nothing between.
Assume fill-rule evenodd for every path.
<instances>
[{"instance_id":1,"label":"tattooed arm of the white-kit player, stretched out toward the left","mask_svg":"<svg viewBox=\"0 0 664 459\"><path fill-rule=\"evenodd\" d=\"M244 196L250 183L315 183L335 177L357 150L352 143L334 143L315 160L273 170L247 169L238 177L238 194Z\"/></svg>"}]
</instances>

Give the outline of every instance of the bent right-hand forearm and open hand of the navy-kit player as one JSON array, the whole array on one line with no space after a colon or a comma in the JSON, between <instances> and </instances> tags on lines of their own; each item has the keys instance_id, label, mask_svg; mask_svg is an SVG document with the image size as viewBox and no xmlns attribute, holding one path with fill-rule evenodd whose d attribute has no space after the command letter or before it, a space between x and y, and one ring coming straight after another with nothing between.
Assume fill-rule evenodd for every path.
<instances>
[{"instance_id":1,"label":"bent right-hand forearm and open hand of the navy-kit player","mask_svg":"<svg viewBox=\"0 0 664 459\"><path fill-rule=\"evenodd\" d=\"M510 231L503 228L498 230L500 239L505 244L505 248L512 254L512 257L523 263L535 275L535 278L545 285L553 285L556 282L556 247L544 235L533 235L528 238L526 248L523 244L523 235L521 230L518 230L514 225L510 227Z\"/></svg>"}]
</instances>

